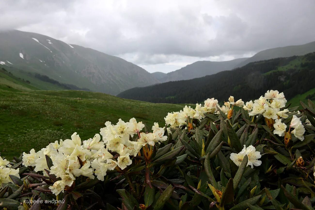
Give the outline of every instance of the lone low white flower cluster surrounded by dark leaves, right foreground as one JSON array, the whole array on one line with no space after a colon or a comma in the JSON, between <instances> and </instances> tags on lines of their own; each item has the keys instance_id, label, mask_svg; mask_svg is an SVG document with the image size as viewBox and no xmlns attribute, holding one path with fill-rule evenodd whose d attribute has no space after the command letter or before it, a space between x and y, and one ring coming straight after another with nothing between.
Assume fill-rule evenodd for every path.
<instances>
[{"instance_id":1,"label":"lone low white flower cluster surrounded by dark leaves, right foreground","mask_svg":"<svg viewBox=\"0 0 315 210\"><path fill-rule=\"evenodd\" d=\"M260 154L260 152L256 151L255 147L252 145L250 145L248 147L246 147L244 145L244 148L238 154L231 153L230 159L237 166L240 166L245 155L247 155L247 157L248 157L247 165L250 166L251 168L254 168L254 166L260 166L261 165L261 161L257 160L257 159L261 158L261 154Z\"/></svg>"}]
</instances>

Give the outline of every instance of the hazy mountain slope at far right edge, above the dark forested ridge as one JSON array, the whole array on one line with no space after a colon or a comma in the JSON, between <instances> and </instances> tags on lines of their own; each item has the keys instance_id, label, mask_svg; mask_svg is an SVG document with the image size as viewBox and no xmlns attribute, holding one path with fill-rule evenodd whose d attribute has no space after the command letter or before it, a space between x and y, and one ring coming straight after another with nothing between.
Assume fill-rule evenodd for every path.
<instances>
[{"instance_id":1,"label":"hazy mountain slope at far right edge, above the dark forested ridge","mask_svg":"<svg viewBox=\"0 0 315 210\"><path fill-rule=\"evenodd\" d=\"M250 62L268 60L272 58L284 58L291 57L294 55L305 55L310 52L315 52L315 41L306 43L303 45L292 45L286 47L276 47L272 49L267 49L256 53L254 56L246 59L245 61L239 63L235 66L242 67Z\"/></svg>"}]
</instances>

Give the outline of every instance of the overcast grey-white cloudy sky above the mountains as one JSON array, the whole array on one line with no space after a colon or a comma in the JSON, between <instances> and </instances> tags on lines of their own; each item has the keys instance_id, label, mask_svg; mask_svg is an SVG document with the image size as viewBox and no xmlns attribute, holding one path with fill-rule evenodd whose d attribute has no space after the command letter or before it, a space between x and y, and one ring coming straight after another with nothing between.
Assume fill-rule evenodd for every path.
<instances>
[{"instance_id":1,"label":"overcast grey-white cloudy sky above the mountains","mask_svg":"<svg viewBox=\"0 0 315 210\"><path fill-rule=\"evenodd\" d=\"M124 58L149 72L315 41L314 0L1 0L18 29Z\"/></svg>"}]
</instances>

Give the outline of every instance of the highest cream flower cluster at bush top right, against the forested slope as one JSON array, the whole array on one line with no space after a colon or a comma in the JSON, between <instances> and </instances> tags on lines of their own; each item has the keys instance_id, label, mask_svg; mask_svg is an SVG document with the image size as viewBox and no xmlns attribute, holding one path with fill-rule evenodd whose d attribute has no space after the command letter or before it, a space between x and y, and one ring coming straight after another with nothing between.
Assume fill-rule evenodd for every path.
<instances>
[{"instance_id":1,"label":"highest cream flower cluster at bush top right, against the forested slope","mask_svg":"<svg viewBox=\"0 0 315 210\"><path fill-rule=\"evenodd\" d=\"M254 102L249 101L243 106L243 108L249 111L249 116L262 114L267 119L278 119L278 117L287 118L289 112L288 109L280 111L285 107L287 100L284 97L283 92L270 90L265 93L265 96L261 96Z\"/></svg>"}]
</instances>

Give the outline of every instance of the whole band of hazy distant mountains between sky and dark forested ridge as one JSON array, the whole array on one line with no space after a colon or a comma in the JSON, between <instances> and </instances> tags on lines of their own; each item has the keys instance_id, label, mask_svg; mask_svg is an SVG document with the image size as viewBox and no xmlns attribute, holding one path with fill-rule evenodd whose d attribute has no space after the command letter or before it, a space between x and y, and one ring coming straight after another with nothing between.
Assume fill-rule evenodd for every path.
<instances>
[{"instance_id":1,"label":"whole band of hazy distant mountains between sky and dark forested ridge","mask_svg":"<svg viewBox=\"0 0 315 210\"><path fill-rule=\"evenodd\" d=\"M177 80L190 80L244 66L253 61L304 55L315 51L315 41L304 45L267 49L251 58L231 61L198 61L167 74L149 73L122 58L37 33L19 30L0 32L0 66L30 80L52 79L64 86L117 95L134 88ZM2 64L2 65L1 65ZM47 79L47 78L46 78ZM41 87L45 84L41 84ZM61 87L61 88L62 88ZM47 85L47 89L50 86Z\"/></svg>"}]
</instances>

